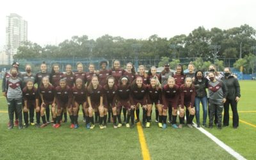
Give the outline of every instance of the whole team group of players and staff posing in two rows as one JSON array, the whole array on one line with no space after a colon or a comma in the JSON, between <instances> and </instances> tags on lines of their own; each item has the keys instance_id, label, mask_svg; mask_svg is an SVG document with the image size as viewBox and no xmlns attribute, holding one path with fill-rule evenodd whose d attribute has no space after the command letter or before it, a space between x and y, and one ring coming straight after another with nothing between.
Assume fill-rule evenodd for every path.
<instances>
[{"instance_id":1,"label":"whole team group of players and staff posing in two rows","mask_svg":"<svg viewBox=\"0 0 256 160\"><path fill-rule=\"evenodd\" d=\"M113 117L114 128L122 126L121 111L124 113L126 127L134 127L134 112L136 121L140 122L140 106L143 109L142 124L150 127L152 106L156 109L156 122L159 127L167 127L168 122L173 128L182 128L186 107L188 127L192 127L196 113L196 122L200 127L200 101L202 102L204 117L203 126L207 118L207 92L209 89L209 127L212 127L214 115L216 124L221 129L223 104L227 101L224 125L228 125L229 103L237 108L240 97L239 83L236 77L230 75L230 69L225 68L225 76L216 72L214 65L209 67L210 73L204 77L202 70L194 72L194 65L188 65L188 74L184 75L181 65L177 65L176 72L170 71L169 64L158 75L156 67L151 67L148 74L145 67L140 65L138 73L132 63L127 63L126 69L120 67L120 61L113 62L113 68L108 70L108 62L100 62L100 70L96 71L93 64L89 65L89 72L83 71L83 64L77 63L77 72L72 72L72 66L66 66L66 72L60 72L58 65L52 65L51 73L47 72L47 65L42 63L36 75L31 73L31 65L26 65L26 73L18 71L19 63L13 63L10 72L6 72L3 82L3 95L7 97L10 118L9 128L13 128L13 113L17 113L15 124L22 128L22 107L25 127L28 127L28 111L30 124L33 124L34 109L36 110L36 126L45 127L50 124L50 106L53 127L60 127L64 113L67 122L67 111L70 116L70 128L78 127L79 106L82 106L86 128L93 129L95 121L99 120L100 129L104 129ZM230 83L228 89L223 79ZM231 79L231 81L230 81ZM209 81L210 80L210 81ZM38 90L34 84L38 84ZM232 83L232 84L231 84ZM235 96L236 104L232 101ZM195 103L195 105L194 105ZM196 108L194 107L196 106ZM177 125L177 111L179 110L179 126ZM227 111L226 111L227 110ZM237 112L237 111L236 111ZM95 113L95 119L93 118ZM236 113L237 114L237 113ZM238 115L235 114L233 127L238 127ZM46 118L45 118L46 115ZM107 118L107 115L108 118ZM228 118L227 118L227 117ZM40 117L43 124L40 125ZM226 117L226 118L225 118ZM131 119L131 124L129 123ZM118 121L118 122L117 122ZM19 124L17 124L19 123Z\"/></svg>"}]
</instances>

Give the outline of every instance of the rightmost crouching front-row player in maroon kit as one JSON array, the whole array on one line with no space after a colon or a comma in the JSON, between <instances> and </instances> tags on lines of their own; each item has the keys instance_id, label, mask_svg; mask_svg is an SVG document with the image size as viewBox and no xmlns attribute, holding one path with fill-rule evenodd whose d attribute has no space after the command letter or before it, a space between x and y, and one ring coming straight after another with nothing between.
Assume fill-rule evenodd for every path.
<instances>
[{"instance_id":1,"label":"rightmost crouching front-row player in maroon kit","mask_svg":"<svg viewBox=\"0 0 256 160\"><path fill-rule=\"evenodd\" d=\"M191 124L195 116L195 108L194 108L195 94L196 92L195 92L195 87L192 84L192 78L186 77L185 84L182 84L180 86L180 102L181 102L180 108L184 109L184 106L186 106L186 108L189 111L189 116L187 120L187 125L189 128L193 128ZM179 127L182 127L182 124L184 124L183 121L180 122Z\"/></svg>"}]
</instances>

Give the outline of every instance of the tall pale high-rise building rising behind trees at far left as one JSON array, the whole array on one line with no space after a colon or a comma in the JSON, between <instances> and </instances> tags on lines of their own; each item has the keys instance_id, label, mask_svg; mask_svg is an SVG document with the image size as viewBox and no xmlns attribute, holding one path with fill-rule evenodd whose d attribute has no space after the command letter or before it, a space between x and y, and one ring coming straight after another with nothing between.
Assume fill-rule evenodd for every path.
<instances>
[{"instance_id":1,"label":"tall pale high-rise building rising behind trees at far left","mask_svg":"<svg viewBox=\"0 0 256 160\"><path fill-rule=\"evenodd\" d=\"M9 65L12 64L13 55L17 54L19 46L27 40L28 22L15 13L6 16L6 54Z\"/></svg>"}]
</instances>

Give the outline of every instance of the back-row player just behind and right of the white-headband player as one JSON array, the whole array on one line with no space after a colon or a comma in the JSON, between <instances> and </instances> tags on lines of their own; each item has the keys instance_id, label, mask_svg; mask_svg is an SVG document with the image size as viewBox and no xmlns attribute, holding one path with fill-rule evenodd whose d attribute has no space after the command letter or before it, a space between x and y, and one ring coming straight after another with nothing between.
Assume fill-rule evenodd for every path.
<instances>
[{"instance_id":1,"label":"back-row player just behind and right of the white-headband player","mask_svg":"<svg viewBox=\"0 0 256 160\"><path fill-rule=\"evenodd\" d=\"M123 76L126 76L129 83L131 83L132 81L134 81L135 77L136 77L136 72L135 72L135 69L134 69L134 66L132 65L131 62L127 63L126 65L126 70L123 74ZM120 81L120 79L119 79ZM126 122L126 113L127 113L127 110L126 108L121 108L123 109L123 114L124 114L124 122Z\"/></svg>"}]
</instances>

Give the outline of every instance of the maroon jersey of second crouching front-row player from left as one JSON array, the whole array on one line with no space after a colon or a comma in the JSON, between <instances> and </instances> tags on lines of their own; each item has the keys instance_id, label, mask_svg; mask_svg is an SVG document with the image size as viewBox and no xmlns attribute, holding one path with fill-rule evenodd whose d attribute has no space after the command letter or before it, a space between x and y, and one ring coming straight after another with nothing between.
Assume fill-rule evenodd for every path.
<instances>
[{"instance_id":1,"label":"maroon jersey of second crouching front-row player from left","mask_svg":"<svg viewBox=\"0 0 256 160\"><path fill-rule=\"evenodd\" d=\"M54 100L55 89L54 86L50 84L47 88L44 88L44 86L41 85L39 88L39 93L43 95L43 100L46 102L52 102Z\"/></svg>"}]
</instances>

